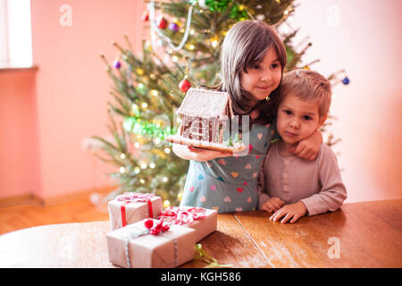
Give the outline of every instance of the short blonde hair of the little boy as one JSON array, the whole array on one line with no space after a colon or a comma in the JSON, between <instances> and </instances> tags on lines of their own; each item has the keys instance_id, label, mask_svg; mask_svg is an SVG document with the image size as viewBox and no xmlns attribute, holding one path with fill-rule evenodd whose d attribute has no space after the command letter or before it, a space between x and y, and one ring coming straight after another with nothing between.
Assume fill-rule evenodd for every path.
<instances>
[{"instance_id":1,"label":"short blonde hair of the little boy","mask_svg":"<svg viewBox=\"0 0 402 286\"><path fill-rule=\"evenodd\" d=\"M331 105L331 83L317 71L294 70L283 75L278 106L289 93L305 100L318 102L320 120L328 114Z\"/></svg>"}]
</instances>

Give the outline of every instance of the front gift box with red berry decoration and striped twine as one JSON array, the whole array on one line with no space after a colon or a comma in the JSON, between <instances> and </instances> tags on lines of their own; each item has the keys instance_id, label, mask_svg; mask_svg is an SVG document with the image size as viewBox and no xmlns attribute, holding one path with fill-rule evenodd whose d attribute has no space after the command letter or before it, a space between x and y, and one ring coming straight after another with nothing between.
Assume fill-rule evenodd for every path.
<instances>
[{"instance_id":1,"label":"front gift box with red berry decoration and striped twine","mask_svg":"<svg viewBox=\"0 0 402 286\"><path fill-rule=\"evenodd\" d=\"M172 268L194 258L196 231L162 220L146 219L107 233L106 240L109 259L114 265Z\"/></svg>"}]
</instances>

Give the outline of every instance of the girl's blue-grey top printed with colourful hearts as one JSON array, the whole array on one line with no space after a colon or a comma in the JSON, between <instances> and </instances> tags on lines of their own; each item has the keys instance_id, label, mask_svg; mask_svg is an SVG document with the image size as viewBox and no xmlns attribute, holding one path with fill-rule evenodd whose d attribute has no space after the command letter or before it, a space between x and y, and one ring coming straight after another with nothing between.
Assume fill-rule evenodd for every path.
<instances>
[{"instance_id":1,"label":"girl's blue-grey top printed with colourful hearts","mask_svg":"<svg viewBox=\"0 0 402 286\"><path fill-rule=\"evenodd\" d=\"M260 164L277 132L275 124L253 124L247 156L190 160L180 206L214 208L218 213L252 211L257 208Z\"/></svg>"}]
</instances>

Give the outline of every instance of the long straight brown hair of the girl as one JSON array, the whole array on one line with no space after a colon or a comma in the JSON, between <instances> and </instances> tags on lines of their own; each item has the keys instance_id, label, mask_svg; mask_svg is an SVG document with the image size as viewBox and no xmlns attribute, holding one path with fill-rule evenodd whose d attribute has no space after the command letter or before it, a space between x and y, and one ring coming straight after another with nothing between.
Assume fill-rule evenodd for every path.
<instances>
[{"instance_id":1,"label":"long straight brown hair of the girl","mask_svg":"<svg viewBox=\"0 0 402 286\"><path fill-rule=\"evenodd\" d=\"M255 97L241 87L241 75L247 73L248 68L261 63L272 47L278 54L283 73L287 62L285 46L275 30L264 21L239 21L229 30L222 43L222 83L218 88L230 94L235 114L245 115L254 109L259 110L259 117L250 120L251 124L272 123L281 83L272 91L269 101L261 100L255 105Z\"/></svg>"}]
</instances>

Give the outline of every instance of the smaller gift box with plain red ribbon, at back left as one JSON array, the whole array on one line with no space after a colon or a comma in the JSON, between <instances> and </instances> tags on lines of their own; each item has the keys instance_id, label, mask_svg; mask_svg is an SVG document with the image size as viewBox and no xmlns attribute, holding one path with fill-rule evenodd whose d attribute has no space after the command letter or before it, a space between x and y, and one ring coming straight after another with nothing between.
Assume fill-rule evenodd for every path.
<instances>
[{"instance_id":1,"label":"smaller gift box with plain red ribbon, at back left","mask_svg":"<svg viewBox=\"0 0 402 286\"><path fill-rule=\"evenodd\" d=\"M127 192L109 201L112 230L146 218L156 218L162 212L162 198L149 193Z\"/></svg>"}]
</instances>

